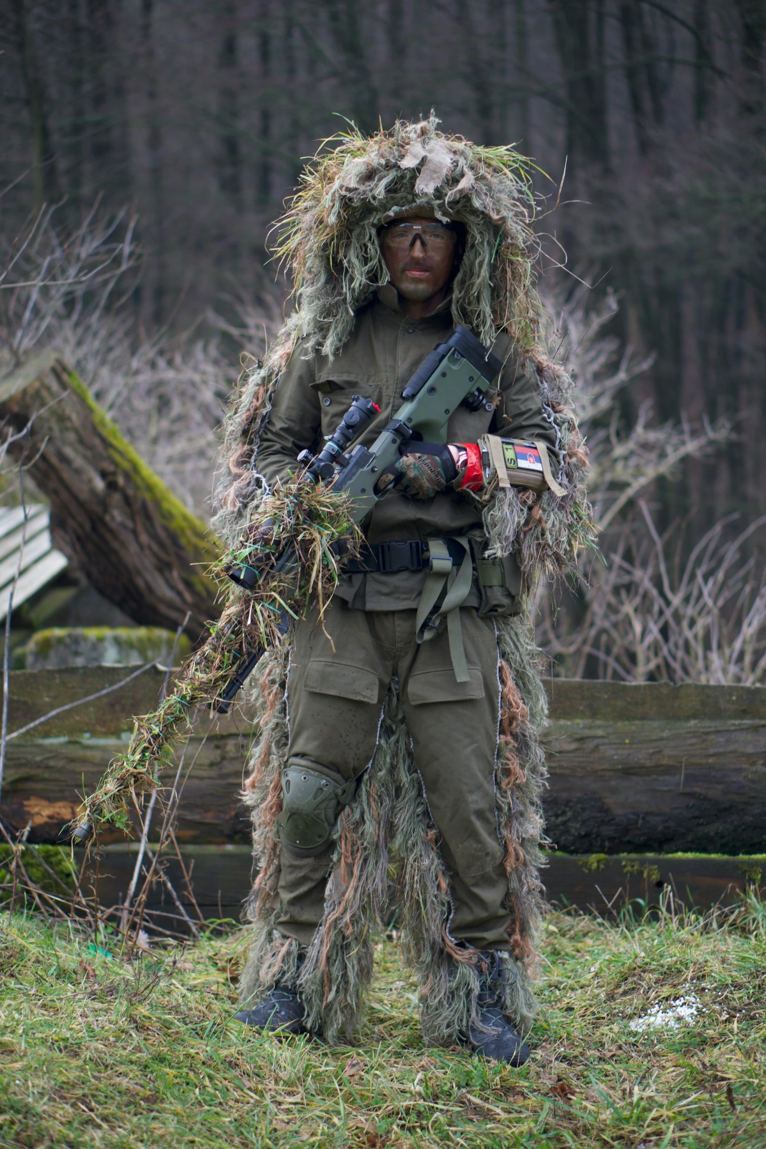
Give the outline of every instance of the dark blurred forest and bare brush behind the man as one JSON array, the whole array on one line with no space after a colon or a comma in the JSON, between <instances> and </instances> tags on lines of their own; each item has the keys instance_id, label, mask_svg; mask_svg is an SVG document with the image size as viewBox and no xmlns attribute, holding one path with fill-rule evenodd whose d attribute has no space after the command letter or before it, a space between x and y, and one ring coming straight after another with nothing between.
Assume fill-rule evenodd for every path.
<instances>
[{"instance_id":1,"label":"dark blurred forest and bare brush behind the man","mask_svg":"<svg viewBox=\"0 0 766 1149\"><path fill-rule=\"evenodd\" d=\"M0 371L60 346L204 514L240 353L280 321L266 236L304 157L339 116L433 107L550 177L541 292L581 388L608 560L558 614L541 600L559 669L761 680L766 0L0 13Z\"/></svg>"}]
</instances>

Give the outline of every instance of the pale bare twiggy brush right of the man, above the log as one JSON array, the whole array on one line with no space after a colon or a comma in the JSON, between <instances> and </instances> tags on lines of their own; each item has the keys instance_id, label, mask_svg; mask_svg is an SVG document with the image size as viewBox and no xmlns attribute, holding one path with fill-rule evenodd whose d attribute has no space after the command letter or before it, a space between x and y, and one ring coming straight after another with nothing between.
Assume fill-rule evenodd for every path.
<instances>
[{"instance_id":1,"label":"pale bare twiggy brush right of the man, above the log","mask_svg":"<svg viewBox=\"0 0 766 1149\"><path fill-rule=\"evenodd\" d=\"M766 589L756 552L763 520L735 533L736 516L687 539L673 523L660 538L644 499L689 456L712 455L733 437L706 419L658 426L641 404L625 425L620 395L652 357L605 334L618 310L591 306L579 286L546 299L549 338L577 381L580 429L590 453L588 494L599 555L581 552L568 589L541 585L537 641L556 673L644 683L756 685L766 671Z\"/></svg>"}]
</instances>

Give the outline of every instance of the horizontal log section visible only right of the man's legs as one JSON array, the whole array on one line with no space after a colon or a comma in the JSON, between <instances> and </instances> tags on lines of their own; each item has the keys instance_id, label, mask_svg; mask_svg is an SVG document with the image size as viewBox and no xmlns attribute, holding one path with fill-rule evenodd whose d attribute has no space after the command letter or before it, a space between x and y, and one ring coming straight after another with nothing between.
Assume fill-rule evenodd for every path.
<instances>
[{"instance_id":1,"label":"horizontal log section visible only right of the man's legs","mask_svg":"<svg viewBox=\"0 0 766 1149\"><path fill-rule=\"evenodd\" d=\"M766 850L766 689L554 679L548 692L559 849Z\"/></svg>"}]
</instances>

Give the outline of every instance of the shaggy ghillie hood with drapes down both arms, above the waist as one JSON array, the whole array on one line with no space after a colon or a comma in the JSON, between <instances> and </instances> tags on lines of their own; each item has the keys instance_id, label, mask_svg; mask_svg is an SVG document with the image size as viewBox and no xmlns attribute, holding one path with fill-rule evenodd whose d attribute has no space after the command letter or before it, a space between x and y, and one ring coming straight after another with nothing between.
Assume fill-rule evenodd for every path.
<instances>
[{"instance_id":1,"label":"shaggy ghillie hood with drapes down both arms, above the waist","mask_svg":"<svg viewBox=\"0 0 766 1149\"><path fill-rule=\"evenodd\" d=\"M295 310L263 363L246 377L226 421L226 473L214 529L233 542L260 496L255 456L263 421L296 342L301 340L304 356L338 355L356 314L388 282L377 229L397 214L418 210L465 226L452 319L487 346L501 332L511 336L536 372L543 409L557 430L558 478L566 495L546 492L539 499L511 489L485 508L490 553L508 554L519 540L531 583L570 564L589 533L581 483L585 454L568 406L571 380L542 346L534 291L533 165L511 147L480 147L439 131L438 124L432 114L416 124L397 121L390 131L370 137L354 129L326 140L303 172L272 232L274 254L295 285Z\"/></svg>"}]
</instances>

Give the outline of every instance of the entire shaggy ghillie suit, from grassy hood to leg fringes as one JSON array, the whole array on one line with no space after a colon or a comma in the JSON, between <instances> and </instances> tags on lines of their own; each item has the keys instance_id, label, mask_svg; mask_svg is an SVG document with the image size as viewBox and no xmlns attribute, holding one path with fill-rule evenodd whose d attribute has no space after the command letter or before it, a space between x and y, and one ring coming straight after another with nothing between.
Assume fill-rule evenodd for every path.
<instances>
[{"instance_id":1,"label":"entire shaggy ghillie suit, from grassy hood to leg fringes","mask_svg":"<svg viewBox=\"0 0 766 1149\"><path fill-rule=\"evenodd\" d=\"M516 555L523 608L540 577L560 573L590 539L585 450L568 400L571 380L539 344L540 310L532 284L534 199L526 161L510 148L481 148L446 136L436 124L432 116L418 124L397 123L371 138L343 136L305 171L281 222L278 246L294 276L296 309L264 362L246 379L227 419L230 475L219 491L214 526L234 545L268 491L258 446L291 357L320 355L332 362L351 337L357 314L387 283L377 237L380 224L397 211L459 221L465 250L452 284L452 322L471 327L487 346L505 340L503 346L512 346L527 364L560 460L562 495L495 487L480 496L486 555ZM495 811L510 911L508 951L502 956L505 1011L516 1024L528 1026L535 1011L529 982L543 903L537 871L546 769L539 733L546 722L546 694L526 611L498 617L495 627ZM334 827L324 918L308 947L276 928L291 641L288 635L270 650L254 674L261 735L245 791L258 876L249 902L255 926L241 980L243 1003L299 977L308 1027L330 1041L351 1034L395 863L397 926L421 989L424 1033L441 1043L465 1040L475 1016L479 955L450 933L450 874L413 761L396 680L385 700L372 759Z\"/></svg>"}]
</instances>

